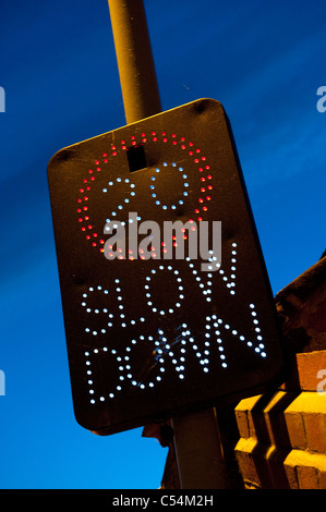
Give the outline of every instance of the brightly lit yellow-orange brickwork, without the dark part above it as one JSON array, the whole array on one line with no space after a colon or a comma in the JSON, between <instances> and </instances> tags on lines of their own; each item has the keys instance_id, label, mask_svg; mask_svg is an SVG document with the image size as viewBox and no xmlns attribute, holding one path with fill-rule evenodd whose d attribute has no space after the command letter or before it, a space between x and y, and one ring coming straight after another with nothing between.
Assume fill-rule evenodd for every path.
<instances>
[{"instance_id":1,"label":"brightly lit yellow-orange brickwork, without the dark part above it","mask_svg":"<svg viewBox=\"0 0 326 512\"><path fill-rule=\"evenodd\" d=\"M245 487L326 489L326 393L316 390L321 364L326 376L326 351L297 359L300 389L252 397L236 407Z\"/></svg>"}]
</instances>

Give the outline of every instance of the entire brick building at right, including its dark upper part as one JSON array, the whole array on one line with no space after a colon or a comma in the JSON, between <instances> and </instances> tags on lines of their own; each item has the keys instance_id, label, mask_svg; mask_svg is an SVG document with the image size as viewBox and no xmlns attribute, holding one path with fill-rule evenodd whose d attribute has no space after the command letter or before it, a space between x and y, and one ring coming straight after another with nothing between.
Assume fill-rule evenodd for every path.
<instances>
[{"instance_id":1,"label":"entire brick building at right, including its dark upper part","mask_svg":"<svg viewBox=\"0 0 326 512\"><path fill-rule=\"evenodd\" d=\"M239 470L246 488L326 489L326 257L276 305L292 368L277 390L236 406Z\"/></svg>"}]
</instances>

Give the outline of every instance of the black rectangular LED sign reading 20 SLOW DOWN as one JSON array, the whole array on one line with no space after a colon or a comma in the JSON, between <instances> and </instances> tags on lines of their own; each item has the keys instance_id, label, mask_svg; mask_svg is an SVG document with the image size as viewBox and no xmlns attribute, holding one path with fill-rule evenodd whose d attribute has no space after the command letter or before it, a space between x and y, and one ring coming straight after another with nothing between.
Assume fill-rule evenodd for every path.
<instances>
[{"instance_id":1,"label":"black rectangular LED sign reading 20 SLOW DOWN","mask_svg":"<svg viewBox=\"0 0 326 512\"><path fill-rule=\"evenodd\" d=\"M82 426L113 434L240 400L278 377L273 296L218 101L61 149L48 178ZM212 247L213 225L221 244L203 261L190 242L208 232Z\"/></svg>"}]
</instances>

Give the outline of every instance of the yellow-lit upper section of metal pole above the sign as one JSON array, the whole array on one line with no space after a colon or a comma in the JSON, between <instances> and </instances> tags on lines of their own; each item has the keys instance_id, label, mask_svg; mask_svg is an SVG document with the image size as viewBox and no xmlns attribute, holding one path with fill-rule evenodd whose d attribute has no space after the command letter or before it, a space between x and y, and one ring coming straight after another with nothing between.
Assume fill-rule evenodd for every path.
<instances>
[{"instance_id":1,"label":"yellow-lit upper section of metal pole above the sign","mask_svg":"<svg viewBox=\"0 0 326 512\"><path fill-rule=\"evenodd\" d=\"M126 123L161 111L143 0L108 0Z\"/></svg>"}]
</instances>

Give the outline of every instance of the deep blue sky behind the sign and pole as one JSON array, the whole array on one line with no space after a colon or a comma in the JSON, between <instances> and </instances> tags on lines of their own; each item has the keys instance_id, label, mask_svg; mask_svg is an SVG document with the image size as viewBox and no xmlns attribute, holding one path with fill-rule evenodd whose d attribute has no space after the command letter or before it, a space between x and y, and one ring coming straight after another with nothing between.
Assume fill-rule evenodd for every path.
<instances>
[{"instance_id":1,"label":"deep blue sky behind the sign and pole","mask_svg":"<svg viewBox=\"0 0 326 512\"><path fill-rule=\"evenodd\" d=\"M145 0L164 110L230 118L274 293L325 248L321 0ZM125 124L106 0L1 1L1 488L157 488L167 449L73 416L47 163Z\"/></svg>"}]
</instances>

